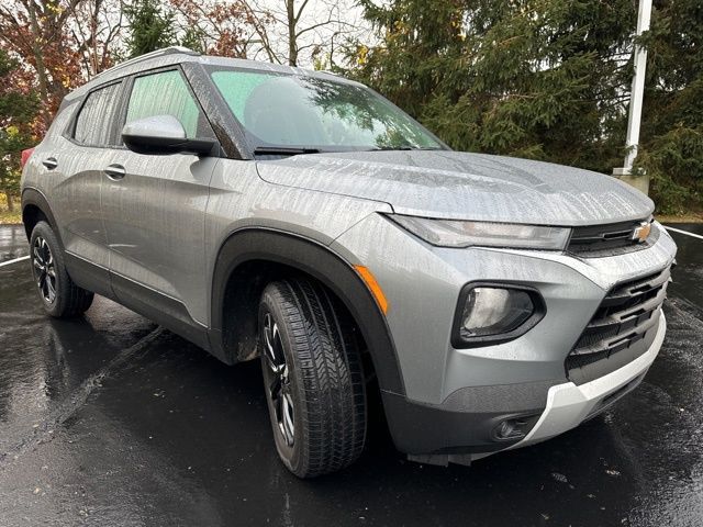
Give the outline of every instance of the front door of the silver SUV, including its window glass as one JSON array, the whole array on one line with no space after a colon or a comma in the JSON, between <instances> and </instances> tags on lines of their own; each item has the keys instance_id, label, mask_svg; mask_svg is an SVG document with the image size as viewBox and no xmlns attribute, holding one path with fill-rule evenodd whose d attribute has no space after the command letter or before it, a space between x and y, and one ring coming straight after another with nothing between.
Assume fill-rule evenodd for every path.
<instances>
[{"instance_id":1,"label":"front door of the silver SUV, including its window glass","mask_svg":"<svg viewBox=\"0 0 703 527\"><path fill-rule=\"evenodd\" d=\"M215 138L179 68L135 76L123 122L178 119L188 137ZM207 322L204 217L215 157L123 148L105 181L103 213L112 287L120 301L174 327Z\"/></svg>"}]
</instances>

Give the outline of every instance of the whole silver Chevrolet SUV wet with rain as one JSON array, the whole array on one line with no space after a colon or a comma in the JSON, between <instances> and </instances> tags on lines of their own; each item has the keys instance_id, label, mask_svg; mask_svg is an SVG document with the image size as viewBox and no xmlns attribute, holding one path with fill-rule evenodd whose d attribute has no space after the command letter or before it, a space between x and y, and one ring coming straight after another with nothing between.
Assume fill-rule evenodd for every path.
<instances>
[{"instance_id":1,"label":"whole silver Chevrolet SUV wet with rain","mask_svg":"<svg viewBox=\"0 0 703 527\"><path fill-rule=\"evenodd\" d=\"M97 293L228 365L260 356L303 478L361 453L371 393L417 461L561 434L633 390L666 330L676 245L647 197L451 152L326 72L183 48L116 66L66 97L22 208L51 315Z\"/></svg>"}]
</instances>

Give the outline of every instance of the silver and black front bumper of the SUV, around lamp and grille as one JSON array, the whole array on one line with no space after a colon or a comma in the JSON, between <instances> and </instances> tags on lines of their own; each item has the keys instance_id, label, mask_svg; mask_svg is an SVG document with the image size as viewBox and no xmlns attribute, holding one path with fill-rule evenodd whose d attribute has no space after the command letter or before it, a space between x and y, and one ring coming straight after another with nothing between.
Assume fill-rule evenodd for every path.
<instances>
[{"instance_id":1,"label":"silver and black front bumper of the SUV, around lamp and grille","mask_svg":"<svg viewBox=\"0 0 703 527\"><path fill-rule=\"evenodd\" d=\"M592 382L567 379L567 356L609 292L671 266L676 245L663 229L644 250L577 258L432 247L372 215L333 246L347 260L367 266L389 301L386 322L403 391L383 385L381 391L393 440L410 455L476 457L577 426L634 388L663 339L661 317L635 360ZM458 349L450 335L461 288L487 280L537 290L546 314L514 340ZM496 437L506 419L524 422L524 434Z\"/></svg>"}]
</instances>

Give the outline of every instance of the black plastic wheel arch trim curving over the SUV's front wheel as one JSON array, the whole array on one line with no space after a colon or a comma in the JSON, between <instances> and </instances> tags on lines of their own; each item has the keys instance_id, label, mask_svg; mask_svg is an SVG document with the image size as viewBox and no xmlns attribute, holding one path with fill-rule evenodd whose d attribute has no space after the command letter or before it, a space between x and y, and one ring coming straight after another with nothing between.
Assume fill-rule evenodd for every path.
<instances>
[{"instance_id":1,"label":"black plastic wheel arch trim curving over the SUV's front wheel","mask_svg":"<svg viewBox=\"0 0 703 527\"><path fill-rule=\"evenodd\" d=\"M393 338L371 292L350 262L330 247L298 234L268 227L244 227L230 234L214 265L211 290L211 347L227 357L223 312L227 282L243 264L266 260L298 269L327 287L345 304L366 341L380 388L405 393Z\"/></svg>"}]
</instances>

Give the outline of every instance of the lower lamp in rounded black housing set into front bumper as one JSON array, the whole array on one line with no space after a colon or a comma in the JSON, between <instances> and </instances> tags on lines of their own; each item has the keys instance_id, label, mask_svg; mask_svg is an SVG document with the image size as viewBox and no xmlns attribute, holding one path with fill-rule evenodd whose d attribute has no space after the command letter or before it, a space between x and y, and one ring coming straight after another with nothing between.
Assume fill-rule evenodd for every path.
<instances>
[{"instance_id":1,"label":"lower lamp in rounded black housing set into front bumper","mask_svg":"<svg viewBox=\"0 0 703 527\"><path fill-rule=\"evenodd\" d=\"M487 346L517 338L545 315L542 295L523 285L468 284L459 295L455 347Z\"/></svg>"}]
</instances>

